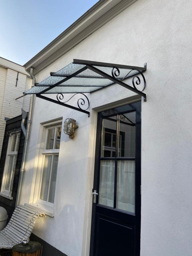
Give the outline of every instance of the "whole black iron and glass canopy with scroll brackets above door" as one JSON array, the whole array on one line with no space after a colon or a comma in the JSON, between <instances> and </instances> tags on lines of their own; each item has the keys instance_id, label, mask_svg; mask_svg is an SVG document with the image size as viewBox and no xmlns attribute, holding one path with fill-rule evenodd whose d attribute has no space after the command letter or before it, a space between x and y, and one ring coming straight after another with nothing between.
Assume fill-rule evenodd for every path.
<instances>
[{"instance_id":1,"label":"whole black iron and glass canopy with scroll brackets above door","mask_svg":"<svg viewBox=\"0 0 192 256\"><path fill-rule=\"evenodd\" d=\"M89 100L84 93L91 93L113 83L139 94L146 101L146 94L143 93L146 87L143 71L146 68L146 63L144 67L135 67L74 59L72 63L59 71L51 72L48 78L38 84L36 83L34 87L24 92L24 95L36 94L39 98L84 112L89 116L90 113L86 111L89 108ZM132 77L132 86L122 81L128 77ZM140 91L136 86L141 84L141 79L143 80L143 89ZM75 93L71 98L76 94L81 94L82 98L77 101L78 107L65 104L71 98L62 102L64 93ZM57 100L45 97L42 94L57 94ZM83 109L85 106L86 109Z\"/></svg>"}]
</instances>

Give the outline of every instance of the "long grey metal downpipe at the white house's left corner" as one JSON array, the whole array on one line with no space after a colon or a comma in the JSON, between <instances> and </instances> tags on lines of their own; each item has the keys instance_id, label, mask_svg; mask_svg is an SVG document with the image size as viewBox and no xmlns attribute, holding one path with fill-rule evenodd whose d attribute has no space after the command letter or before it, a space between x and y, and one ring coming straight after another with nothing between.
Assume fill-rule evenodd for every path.
<instances>
[{"instance_id":1,"label":"long grey metal downpipe at the white house's left corner","mask_svg":"<svg viewBox=\"0 0 192 256\"><path fill-rule=\"evenodd\" d=\"M31 69L30 69L30 76L32 78L32 86L31 87L35 86L35 82L36 82L33 72L34 72L34 68L31 67ZM20 198L21 198L21 190L22 190L23 176L24 176L24 172L25 172L25 162L26 162L26 156L27 156L27 146L28 146L29 133L30 133L31 123L32 123L31 119L32 119L32 112L33 112L33 103L34 103L34 94L31 94L28 120L27 120L27 129L26 129L26 136L25 136L25 144L24 144L24 149L23 149L23 157L22 157L22 162L21 162L21 169L20 169L20 175L19 175L19 184L18 184L18 189L17 189L17 198L16 198L15 207L17 207L17 205L19 205Z\"/></svg>"}]
</instances>

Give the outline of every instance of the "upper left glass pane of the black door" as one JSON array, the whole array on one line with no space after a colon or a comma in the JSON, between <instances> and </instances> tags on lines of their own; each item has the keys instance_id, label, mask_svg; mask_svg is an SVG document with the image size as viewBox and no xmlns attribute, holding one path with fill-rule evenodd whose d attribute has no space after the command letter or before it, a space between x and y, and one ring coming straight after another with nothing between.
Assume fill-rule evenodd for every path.
<instances>
[{"instance_id":1,"label":"upper left glass pane of the black door","mask_svg":"<svg viewBox=\"0 0 192 256\"><path fill-rule=\"evenodd\" d=\"M115 157L117 116L103 119L101 133L101 157Z\"/></svg>"}]
</instances>

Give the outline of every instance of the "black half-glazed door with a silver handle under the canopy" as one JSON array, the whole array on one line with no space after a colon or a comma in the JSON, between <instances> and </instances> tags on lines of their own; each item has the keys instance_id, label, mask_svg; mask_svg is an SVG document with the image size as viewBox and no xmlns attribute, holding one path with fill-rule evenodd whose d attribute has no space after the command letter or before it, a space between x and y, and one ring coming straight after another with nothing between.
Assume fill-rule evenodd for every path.
<instances>
[{"instance_id":1,"label":"black half-glazed door with a silver handle under the canopy","mask_svg":"<svg viewBox=\"0 0 192 256\"><path fill-rule=\"evenodd\" d=\"M140 185L139 101L98 113L90 256L140 255Z\"/></svg>"}]
</instances>

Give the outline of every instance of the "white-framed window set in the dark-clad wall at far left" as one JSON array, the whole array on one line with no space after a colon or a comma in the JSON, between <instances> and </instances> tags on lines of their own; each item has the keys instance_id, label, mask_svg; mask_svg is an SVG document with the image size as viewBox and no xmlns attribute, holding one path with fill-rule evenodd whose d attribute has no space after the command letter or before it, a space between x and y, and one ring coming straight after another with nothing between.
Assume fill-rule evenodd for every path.
<instances>
[{"instance_id":1,"label":"white-framed window set in the dark-clad wall at far left","mask_svg":"<svg viewBox=\"0 0 192 256\"><path fill-rule=\"evenodd\" d=\"M0 195L12 199L12 186L16 168L17 153L19 148L20 131L9 134L5 167L1 184Z\"/></svg>"}]
</instances>

